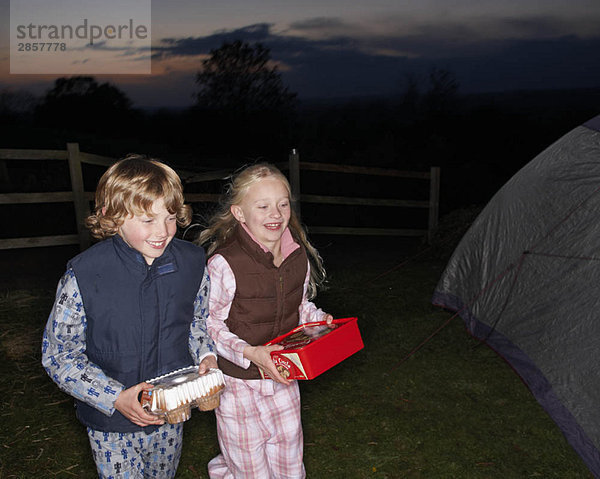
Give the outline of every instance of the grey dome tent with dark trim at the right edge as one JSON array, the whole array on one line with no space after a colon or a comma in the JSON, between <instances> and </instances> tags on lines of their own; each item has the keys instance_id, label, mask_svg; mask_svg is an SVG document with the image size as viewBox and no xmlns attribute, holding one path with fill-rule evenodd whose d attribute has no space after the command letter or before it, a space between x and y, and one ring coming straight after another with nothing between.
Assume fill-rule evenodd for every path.
<instances>
[{"instance_id":1,"label":"grey dome tent with dark trim at the right edge","mask_svg":"<svg viewBox=\"0 0 600 479\"><path fill-rule=\"evenodd\" d=\"M600 477L600 115L494 195L433 303L508 361Z\"/></svg>"}]
</instances>

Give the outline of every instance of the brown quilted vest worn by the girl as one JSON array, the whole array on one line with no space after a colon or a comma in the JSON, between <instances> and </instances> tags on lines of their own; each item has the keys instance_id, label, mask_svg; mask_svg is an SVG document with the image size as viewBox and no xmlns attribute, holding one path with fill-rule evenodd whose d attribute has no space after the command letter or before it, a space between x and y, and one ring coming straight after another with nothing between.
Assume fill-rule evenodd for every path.
<instances>
[{"instance_id":1,"label":"brown quilted vest worn by the girl","mask_svg":"<svg viewBox=\"0 0 600 479\"><path fill-rule=\"evenodd\" d=\"M222 255L235 276L235 296L225 324L251 346L259 346L292 330L299 323L308 258L304 247L294 250L281 265L240 226L215 254ZM243 369L219 356L219 368L241 379L260 379L254 363Z\"/></svg>"}]
</instances>

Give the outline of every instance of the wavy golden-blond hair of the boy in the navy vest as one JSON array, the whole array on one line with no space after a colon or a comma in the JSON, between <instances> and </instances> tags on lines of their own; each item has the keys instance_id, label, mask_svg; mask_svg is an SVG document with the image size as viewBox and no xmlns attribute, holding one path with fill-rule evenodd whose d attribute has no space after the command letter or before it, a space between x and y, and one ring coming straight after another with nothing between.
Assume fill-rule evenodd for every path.
<instances>
[{"instance_id":1,"label":"wavy golden-blond hair of the boy in the navy vest","mask_svg":"<svg viewBox=\"0 0 600 479\"><path fill-rule=\"evenodd\" d=\"M128 155L100 178L94 212L85 225L95 238L114 236L128 217L152 217L152 204L159 198L167 211L177 216L179 226L190 224L192 209L183 203L183 186L177 173L160 161Z\"/></svg>"}]
</instances>

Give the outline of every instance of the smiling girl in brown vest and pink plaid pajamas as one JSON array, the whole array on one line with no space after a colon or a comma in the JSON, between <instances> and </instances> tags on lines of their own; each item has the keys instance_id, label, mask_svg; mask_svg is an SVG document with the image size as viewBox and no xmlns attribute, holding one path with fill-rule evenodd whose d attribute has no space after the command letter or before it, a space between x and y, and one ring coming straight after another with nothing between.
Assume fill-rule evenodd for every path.
<instances>
[{"instance_id":1,"label":"smiling girl in brown vest and pink plaid pajamas","mask_svg":"<svg viewBox=\"0 0 600 479\"><path fill-rule=\"evenodd\" d=\"M321 258L290 205L290 185L256 164L231 181L222 209L199 238L209 244L207 328L227 387L216 410L221 454L211 478L303 478L300 392L262 346L300 323L325 320L309 301L324 278ZM261 380L258 368L273 380Z\"/></svg>"}]
</instances>

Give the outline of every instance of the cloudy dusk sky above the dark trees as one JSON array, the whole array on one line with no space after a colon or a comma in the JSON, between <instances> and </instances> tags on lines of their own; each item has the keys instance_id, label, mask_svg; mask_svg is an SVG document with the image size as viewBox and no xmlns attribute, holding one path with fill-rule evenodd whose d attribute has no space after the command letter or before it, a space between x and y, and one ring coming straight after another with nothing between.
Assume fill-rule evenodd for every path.
<instances>
[{"instance_id":1,"label":"cloudy dusk sky above the dark trees","mask_svg":"<svg viewBox=\"0 0 600 479\"><path fill-rule=\"evenodd\" d=\"M0 0L5 39L9 11ZM451 71L462 93L595 88L598 25L598 0L161 0L152 2L152 74L95 76L137 106L187 106L202 59L242 39L271 50L300 98L400 94L407 77L432 68ZM43 93L58 75L9 74L7 43L0 89Z\"/></svg>"}]
</instances>

